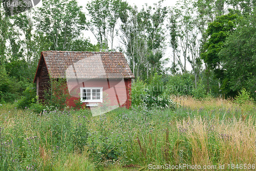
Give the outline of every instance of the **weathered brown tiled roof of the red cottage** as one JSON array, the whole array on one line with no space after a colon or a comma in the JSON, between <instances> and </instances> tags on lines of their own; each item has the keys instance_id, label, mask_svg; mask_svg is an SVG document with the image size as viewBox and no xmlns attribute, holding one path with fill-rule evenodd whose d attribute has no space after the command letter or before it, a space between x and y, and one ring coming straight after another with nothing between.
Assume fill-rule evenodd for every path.
<instances>
[{"instance_id":1,"label":"weathered brown tiled roof of the red cottage","mask_svg":"<svg viewBox=\"0 0 256 171\"><path fill-rule=\"evenodd\" d=\"M42 57L52 78L134 78L120 52L45 51Z\"/></svg>"}]
</instances>

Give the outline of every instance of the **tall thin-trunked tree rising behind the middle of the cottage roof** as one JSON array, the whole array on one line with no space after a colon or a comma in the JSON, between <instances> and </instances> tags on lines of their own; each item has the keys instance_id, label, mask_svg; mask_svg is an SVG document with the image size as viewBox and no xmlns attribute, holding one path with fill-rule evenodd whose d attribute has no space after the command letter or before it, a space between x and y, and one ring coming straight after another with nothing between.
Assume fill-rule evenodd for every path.
<instances>
[{"instance_id":1,"label":"tall thin-trunked tree rising behind the middle of the cottage roof","mask_svg":"<svg viewBox=\"0 0 256 171\"><path fill-rule=\"evenodd\" d=\"M127 9L129 5L121 0L94 0L87 4L91 18L87 26L97 39L100 50L108 50L108 36L110 36L111 51L113 50L114 37L117 34L115 30L117 20L126 14Z\"/></svg>"}]
</instances>

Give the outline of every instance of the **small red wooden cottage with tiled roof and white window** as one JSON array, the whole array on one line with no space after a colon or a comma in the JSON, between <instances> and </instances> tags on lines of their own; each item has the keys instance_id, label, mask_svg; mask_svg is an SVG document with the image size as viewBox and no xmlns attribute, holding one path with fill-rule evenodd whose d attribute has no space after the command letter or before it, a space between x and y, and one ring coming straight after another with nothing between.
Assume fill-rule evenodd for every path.
<instances>
[{"instance_id":1,"label":"small red wooden cottage with tiled roof and white window","mask_svg":"<svg viewBox=\"0 0 256 171\"><path fill-rule=\"evenodd\" d=\"M111 106L131 106L134 75L120 52L41 52L34 78L41 101L45 90L50 89L50 78L66 78L69 106L75 106L75 100L91 108L104 102Z\"/></svg>"}]
</instances>

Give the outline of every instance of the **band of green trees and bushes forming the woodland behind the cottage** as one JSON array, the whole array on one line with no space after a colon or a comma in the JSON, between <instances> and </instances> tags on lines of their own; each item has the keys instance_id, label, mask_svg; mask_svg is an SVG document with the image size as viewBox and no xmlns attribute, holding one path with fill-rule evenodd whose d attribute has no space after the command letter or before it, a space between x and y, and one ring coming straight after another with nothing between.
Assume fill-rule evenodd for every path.
<instances>
[{"instance_id":1,"label":"band of green trees and bushes forming the woodland behind the cottage","mask_svg":"<svg viewBox=\"0 0 256 171\"><path fill-rule=\"evenodd\" d=\"M163 4L95 0L82 7L76 0L45 0L8 16L0 1L0 102L35 102L33 79L47 50L120 51L134 86L154 82L166 86L166 94L196 98L236 97L244 90L255 100L255 1ZM84 35L88 31L97 44ZM172 53L166 56L167 48Z\"/></svg>"}]
</instances>

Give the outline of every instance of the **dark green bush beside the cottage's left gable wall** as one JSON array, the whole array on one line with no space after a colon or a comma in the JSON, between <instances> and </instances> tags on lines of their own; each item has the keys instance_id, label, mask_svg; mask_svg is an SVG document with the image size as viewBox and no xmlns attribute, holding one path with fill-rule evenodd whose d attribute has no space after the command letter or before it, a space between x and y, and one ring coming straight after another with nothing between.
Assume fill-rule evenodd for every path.
<instances>
[{"instance_id":1,"label":"dark green bush beside the cottage's left gable wall","mask_svg":"<svg viewBox=\"0 0 256 171\"><path fill-rule=\"evenodd\" d=\"M18 100L18 108L24 109L25 107L29 108L33 103L36 102L36 88L31 84L23 92L23 96Z\"/></svg>"}]
</instances>

